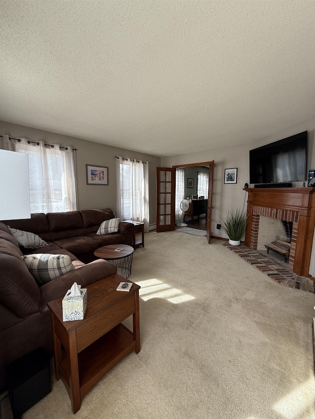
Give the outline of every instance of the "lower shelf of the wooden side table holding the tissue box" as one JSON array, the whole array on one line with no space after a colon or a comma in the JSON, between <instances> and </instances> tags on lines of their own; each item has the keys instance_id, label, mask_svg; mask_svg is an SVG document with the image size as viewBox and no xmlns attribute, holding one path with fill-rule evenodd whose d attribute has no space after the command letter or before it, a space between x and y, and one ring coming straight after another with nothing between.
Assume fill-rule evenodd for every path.
<instances>
[{"instance_id":1,"label":"lower shelf of the wooden side table holding the tissue box","mask_svg":"<svg viewBox=\"0 0 315 419\"><path fill-rule=\"evenodd\" d=\"M133 334L120 323L80 352L78 364L81 400L114 365L133 352L135 346ZM66 352L58 371L69 392L70 362Z\"/></svg>"}]
</instances>

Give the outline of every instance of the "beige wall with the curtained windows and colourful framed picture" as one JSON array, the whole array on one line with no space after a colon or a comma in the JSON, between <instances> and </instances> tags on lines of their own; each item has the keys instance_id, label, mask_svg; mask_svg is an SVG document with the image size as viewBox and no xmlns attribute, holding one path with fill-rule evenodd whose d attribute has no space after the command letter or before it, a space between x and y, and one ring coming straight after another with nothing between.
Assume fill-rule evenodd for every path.
<instances>
[{"instance_id":1,"label":"beige wall with the curtained windows and colourful framed picture","mask_svg":"<svg viewBox=\"0 0 315 419\"><path fill-rule=\"evenodd\" d=\"M72 147L75 147L77 149L76 159L79 209L112 208L116 212L115 156L148 161L150 224L156 223L156 167L160 166L159 157L0 121L0 135L3 134L8 134L11 137L43 140L47 143L55 143L63 146L71 145ZM0 140L2 139L0 138ZM87 185L85 171L86 164L108 167L108 186Z\"/></svg>"}]
</instances>

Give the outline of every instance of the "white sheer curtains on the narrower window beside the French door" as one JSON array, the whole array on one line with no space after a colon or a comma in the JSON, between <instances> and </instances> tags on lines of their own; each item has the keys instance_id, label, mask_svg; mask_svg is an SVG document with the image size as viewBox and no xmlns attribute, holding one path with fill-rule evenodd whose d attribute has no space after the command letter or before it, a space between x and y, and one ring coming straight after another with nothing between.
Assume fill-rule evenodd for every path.
<instances>
[{"instance_id":1,"label":"white sheer curtains on the narrower window beside the French door","mask_svg":"<svg viewBox=\"0 0 315 419\"><path fill-rule=\"evenodd\" d=\"M149 231L149 162L117 157L117 216L144 223Z\"/></svg>"}]
</instances>

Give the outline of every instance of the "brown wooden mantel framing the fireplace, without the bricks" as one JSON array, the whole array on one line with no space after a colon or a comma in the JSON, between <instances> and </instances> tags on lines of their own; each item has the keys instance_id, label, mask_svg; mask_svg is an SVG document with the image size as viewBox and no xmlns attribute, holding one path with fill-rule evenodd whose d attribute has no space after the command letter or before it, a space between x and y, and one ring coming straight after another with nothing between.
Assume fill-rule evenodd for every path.
<instances>
[{"instance_id":1,"label":"brown wooden mantel framing the fireplace, without the bricks","mask_svg":"<svg viewBox=\"0 0 315 419\"><path fill-rule=\"evenodd\" d=\"M254 208L293 212L297 218L293 272L312 278L309 268L315 228L315 188L248 188L244 191L248 192L245 246L252 248Z\"/></svg>"}]
</instances>

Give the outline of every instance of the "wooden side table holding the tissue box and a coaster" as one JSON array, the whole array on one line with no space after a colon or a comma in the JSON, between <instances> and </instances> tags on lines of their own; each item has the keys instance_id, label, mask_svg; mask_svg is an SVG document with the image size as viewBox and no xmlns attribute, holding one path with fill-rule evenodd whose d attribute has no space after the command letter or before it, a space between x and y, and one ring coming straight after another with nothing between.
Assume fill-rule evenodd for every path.
<instances>
[{"instance_id":1,"label":"wooden side table holding the tissue box and a coaster","mask_svg":"<svg viewBox=\"0 0 315 419\"><path fill-rule=\"evenodd\" d=\"M63 380L73 413L114 365L131 352L140 351L140 286L132 283L129 292L116 291L120 282L125 279L115 274L87 286L88 306L83 320L63 322L63 297L48 303L56 379ZM121 324L131 314L133 332Z\"/></svg>"}]
</instances>

